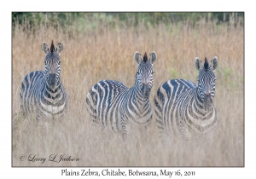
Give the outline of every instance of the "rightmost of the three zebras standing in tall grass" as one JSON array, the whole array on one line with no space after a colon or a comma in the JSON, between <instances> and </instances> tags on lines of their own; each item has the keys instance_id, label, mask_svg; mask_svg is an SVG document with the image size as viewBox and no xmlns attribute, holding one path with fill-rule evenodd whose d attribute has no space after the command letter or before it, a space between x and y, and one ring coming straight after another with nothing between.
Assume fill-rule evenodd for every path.
<instances>
[{"instance_id":1,"label":"rightmost of the three zebras standing in tall grass","mask_svg":"<svg viewBox=\"0 0 256 179\"><path fill-rule=\"evenodd\" d=\"M154 113L160 134L182 134L188 139L192 132L207 133L217 125L213 103L217 57L204 64L196 57L198 85L186 79L172 79L162 84L154 96Z\"/></svg>"}]
</instances>

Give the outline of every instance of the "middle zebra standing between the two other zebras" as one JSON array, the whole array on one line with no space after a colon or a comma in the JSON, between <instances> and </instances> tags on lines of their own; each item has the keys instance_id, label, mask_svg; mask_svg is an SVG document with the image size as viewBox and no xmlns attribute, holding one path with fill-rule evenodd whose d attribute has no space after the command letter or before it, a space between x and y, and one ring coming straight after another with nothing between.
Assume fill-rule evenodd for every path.
<instances>
[{"instance_id":1,"label":"middle zebra standing between the two other zebras","mask_svg":"<svg viewBox=\"0 0 256 179\"><path fill-rule=\"evenodd\" d=\"M93 124L110 129L129 138L131 126L148 128L152 119L149 101L153 86L153 64L157 59L154 51L134 55L137 63L135 84L130 89L115 80L102 80L95 84L86 96L86 107Z\"/></svg>"}]
</instances>

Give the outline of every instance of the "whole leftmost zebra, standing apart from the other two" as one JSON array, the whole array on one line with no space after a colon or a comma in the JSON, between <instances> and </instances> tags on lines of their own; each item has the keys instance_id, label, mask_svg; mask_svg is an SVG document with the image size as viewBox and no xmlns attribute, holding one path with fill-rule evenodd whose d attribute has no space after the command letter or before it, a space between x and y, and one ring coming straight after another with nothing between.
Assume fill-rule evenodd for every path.
<instances>
[{"instance_id":1,"label":"whole leftmost zebra, standing apart from the other two","mask_svg":"<svg viewBox=\"0 0 256 179\"><path fill-rule=\"evenodd\" d=\"M62 120L67 108L67 94L60 78L63 43L58 43L55 48L52 41L49 49L43 42L41 49L45 53L45 70L30 72L23 79L20 107L24 118L28 113L35 113L37 121L44 125L45 119Z\"/></svg>"}]
</instances>

